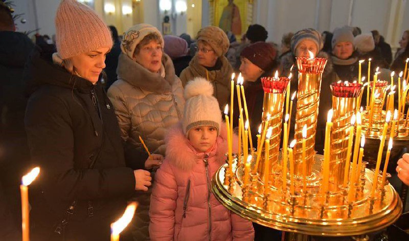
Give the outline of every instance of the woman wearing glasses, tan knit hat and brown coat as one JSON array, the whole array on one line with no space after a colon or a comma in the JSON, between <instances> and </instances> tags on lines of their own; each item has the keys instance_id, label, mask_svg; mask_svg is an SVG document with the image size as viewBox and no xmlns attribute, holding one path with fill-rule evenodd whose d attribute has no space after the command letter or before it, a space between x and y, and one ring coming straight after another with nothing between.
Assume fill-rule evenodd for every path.
<instances>
[{"instance_id":1,"label":"woman wearing glasses, tan knit hat and brown coat","mask_svg":"<svg viewBox=\"0 0 409 241\"><path fill-rule=\"evenodd\" d=\"M229 49L229 38L218 27L208 26L197 33L196 54L189 67L180 73L180 80L185 86L194 77L203 77L213 84L214 96L220 108L230 97L229 85L233 73L232 65L224 54Z\"/></svg>"}]
</instances>

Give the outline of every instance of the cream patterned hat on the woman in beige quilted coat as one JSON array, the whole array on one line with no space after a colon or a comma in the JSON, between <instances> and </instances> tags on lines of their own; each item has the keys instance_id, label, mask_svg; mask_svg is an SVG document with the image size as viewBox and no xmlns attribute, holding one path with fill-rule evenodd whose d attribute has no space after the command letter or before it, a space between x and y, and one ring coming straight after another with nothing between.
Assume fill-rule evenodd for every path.
<instances>
[{"instance_id":1,"label":"cream patterned hat on the woman in beige quilted coat","mask_svg":"<svg viewBox=\"0 0 409 241\"><path fill-rule=\"evenodd\" d=\"M157 28L153 27L149 24L137 24L130 27L121 42L121 50L124 54L126 54L129 58L133 59L133 52L139 45L139 43L144 39L144 37L150 33L156 33L161 38L162 48L164 47L164 40L162 37L161 32L157 30Z\"/></svg>"}]
</instances>

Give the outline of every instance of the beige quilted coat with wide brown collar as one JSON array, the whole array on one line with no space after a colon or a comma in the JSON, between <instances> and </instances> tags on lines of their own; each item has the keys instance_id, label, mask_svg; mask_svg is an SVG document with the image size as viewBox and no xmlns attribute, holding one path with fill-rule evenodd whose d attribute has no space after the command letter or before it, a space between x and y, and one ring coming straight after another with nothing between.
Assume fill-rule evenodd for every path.
<instances>
[{"instance_id":1,"label":"beige quilted coat with wide brown collar","mask_svg":"<svg viewBox=\"0 0 409 241\"><path fill-rule=\"evenodd\" d=\"M150 152L165 155L165 134L180 120L185 99L172 60L164 54L162 63L165 78L121 53L118 80L109 87L108 97L115 108L122 139L143 152L141 136Z\"/></svg>"}]
</instances>

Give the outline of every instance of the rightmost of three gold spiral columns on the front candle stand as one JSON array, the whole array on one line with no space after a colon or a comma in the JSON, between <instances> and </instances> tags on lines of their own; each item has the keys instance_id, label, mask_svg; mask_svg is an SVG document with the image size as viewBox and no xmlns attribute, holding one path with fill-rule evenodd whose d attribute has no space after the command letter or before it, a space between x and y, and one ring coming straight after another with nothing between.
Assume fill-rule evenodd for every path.
<instances>
[{"instance_id":1,"label":"rightmost of three gold spiral columns on the front candle stand","mask_svg":"<svg viewBox=\"0 0 409 241\"><path fill-rule=\"evenodd\" d=\"M332 131L330 144L330 182L338 190L339 185L344 182L344 171L347 161L348 141L351 126L351 118L356 108L358 97L343 98L332 97Z\"/></svg>"}]
</instances>

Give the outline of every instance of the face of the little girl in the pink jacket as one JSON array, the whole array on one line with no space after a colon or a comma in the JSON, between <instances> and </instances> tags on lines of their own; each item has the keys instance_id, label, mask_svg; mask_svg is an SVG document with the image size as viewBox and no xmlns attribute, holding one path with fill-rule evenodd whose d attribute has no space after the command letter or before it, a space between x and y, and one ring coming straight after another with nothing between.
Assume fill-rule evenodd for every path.
<instances>
[{"instance_id":1,"label":"face of the little girl in the pink jacket","mask_svg":"<svg viewBox=\"0 0 409 241\"><path fill-rule=\"evenodd\" d=\"M216 142L217 129L210 125L202 125L191 128L188 139L192 146L199 152L206 152Z\"/></svg>"}]
</instances>

